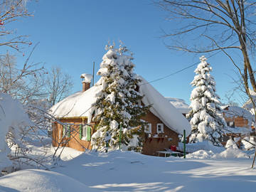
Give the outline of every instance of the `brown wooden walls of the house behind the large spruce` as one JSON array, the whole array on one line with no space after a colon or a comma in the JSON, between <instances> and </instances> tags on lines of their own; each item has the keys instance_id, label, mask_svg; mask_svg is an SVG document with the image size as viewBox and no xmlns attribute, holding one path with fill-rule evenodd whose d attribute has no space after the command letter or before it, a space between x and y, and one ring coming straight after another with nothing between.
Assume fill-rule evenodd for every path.
<instances>
[{"instance_id":1,"label":"brown wooden walls of the house behind the large spruce","mask_svg":"<svg viewBox=\"0 0 256 192\"><path fill-rule=\"evenodd\" d=\"M149 134L145 134L145 140L142 148L142 154L146 155L158 155L156 151L163 151L164 149L170 149L171 145L178 146L178 134L161 122L161 120L154 114L149 112L143 117L146 122L151 123L151 137ZM53 123L53 146L68 146L78 151L85 151L85 149L92 149L90 142L80 139L79 129L82 124L82 119L60 119L60 122L75 124L73 129L75 131L70 133L70 137L63 138L63 126L57 122ZM86 121L85 121L86 122ZM156 133L156 124L164 124L164 133ZM92 133L94 132L92 128ZM157 135L157 137L154 135ZM169 138L172 140L169 141ZM65 143L68 142L66 145Z\"/></svg>"}]
</instances>

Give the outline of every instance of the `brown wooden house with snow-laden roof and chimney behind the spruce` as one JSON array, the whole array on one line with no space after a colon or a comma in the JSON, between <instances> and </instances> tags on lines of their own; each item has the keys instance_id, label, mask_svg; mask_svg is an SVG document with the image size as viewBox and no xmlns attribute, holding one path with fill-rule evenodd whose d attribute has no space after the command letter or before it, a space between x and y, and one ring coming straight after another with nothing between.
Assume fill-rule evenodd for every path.
<instances>
[{"instance_id":1,"label":"brown wooden house with snow-laden roof and chimney behind the spruce","mask_svg":"<svg viewBox=\"0 0 256 192\"><path fill-rule=\"evenodd\" d=\"M80 151L92 149L90 139L95 132L93 104L101 86L96 83L90 87L90 75L83 74L81 78L85 78L82 92L76 92L50 108L50 114L58 119L53 122L53 146L60 144ZM146 116L142 117L148 122L142 153L157 155L157 151L178 146L178 135L183 134L184 129L186 134L191 132L188 120L143 78L138 87L144 95L142 104L152 105Z\"/></svg>"}]
</instances>

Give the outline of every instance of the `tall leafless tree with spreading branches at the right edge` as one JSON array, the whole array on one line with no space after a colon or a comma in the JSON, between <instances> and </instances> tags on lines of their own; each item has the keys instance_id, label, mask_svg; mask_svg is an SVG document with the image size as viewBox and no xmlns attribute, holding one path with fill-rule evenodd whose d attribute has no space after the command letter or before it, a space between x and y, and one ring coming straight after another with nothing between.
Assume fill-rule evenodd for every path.
<instances>
[{"instance_id":1,"label":"tall leafless tree with spreading branches at the right edge","mask_svg":"<svg viewBox=\"0 0 256 192\"><path fill-rule=\"evenodd\" d=\"M256 47L255 0L159 0L157 4L168 12L169 19L180 21L178 25L175 25L178 28L173 33L165 34L165 37L172 38L176 42L169 45L168 48L191 53L209 53L222 50L238 69L245 92L250 97L255 109L255 101L249 90L251 85L256 92L250 55ZM181 41L176 41L178 37ZM198 45L202 38L204 40L203 45L206 46ZM196 40L195 44L184 44L188 39ZM242 67L235 62L228 50L240 52ZM252 167L254 161L255 159Z\"/></svg>"}]
</instances>

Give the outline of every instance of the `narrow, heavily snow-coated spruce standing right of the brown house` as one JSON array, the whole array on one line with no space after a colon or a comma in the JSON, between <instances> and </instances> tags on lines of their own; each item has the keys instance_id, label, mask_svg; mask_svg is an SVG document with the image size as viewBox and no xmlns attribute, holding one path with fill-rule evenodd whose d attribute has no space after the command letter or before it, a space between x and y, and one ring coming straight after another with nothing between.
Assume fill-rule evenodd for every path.
<instances>
[{"instance_id":1,"label":"narrow, heavily snow-coated spruce standing right of the brown house","mask_svg":"<svg viewBox=\"0 0 256 192\"><path fill-rule=\"evenodd\" d=\"M221 146L226 123L221 113L219 97L215 93L215 80L210 75L212 68L204 56L200 60L201 63L195 70L196 76L191 82L195 88L191 92L191 111L187 114L187 118L191 119L192 129L189 142L210 141L215 146Z\"/></svg>"}]
</instances>

